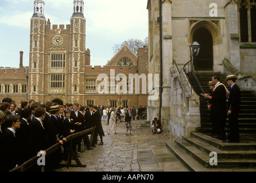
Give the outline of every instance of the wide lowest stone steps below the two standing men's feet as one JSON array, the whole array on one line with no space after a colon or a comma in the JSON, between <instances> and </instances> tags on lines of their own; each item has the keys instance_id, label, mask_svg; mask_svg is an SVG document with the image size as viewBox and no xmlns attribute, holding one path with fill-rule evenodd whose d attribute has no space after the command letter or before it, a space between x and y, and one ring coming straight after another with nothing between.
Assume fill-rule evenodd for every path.
<instances>
[{"instance_id":1,"label":"wide lowest stone steps below the two standing men's feet","mask_svg":"<svg viewBox=\"0 0 256 183\"><path fill-rule=\"evenodd\" d=\"M218 171L221 169L248 169L256 171L256 136L246 140L247 134L241 134L242 142L223 143L204 133L191 132L190 137L176 139L166 143L169 150L190 170L195 172ZM244 136L244 137L243 137ZM211 152L217 153L217 165L211 165Z\"/></svg>"}]
</instances>

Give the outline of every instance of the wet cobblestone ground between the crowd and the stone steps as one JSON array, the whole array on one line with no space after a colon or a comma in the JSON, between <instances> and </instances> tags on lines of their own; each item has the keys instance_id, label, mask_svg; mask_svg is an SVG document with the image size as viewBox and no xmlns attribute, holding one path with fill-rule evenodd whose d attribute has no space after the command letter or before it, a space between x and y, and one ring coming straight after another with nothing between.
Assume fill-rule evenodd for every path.
<instances>
[{"instance_id":1,"label":"wet cobblestone ground between the crowd and the stone steps","mask_svg":"<svg viewBox=\"0 0 256 183\"><path fill-rule=\"evenodd\" d=\"M107 134L107 121L102 121L104 145L79 154L85 168L59 168L57 172L176 172L189 170L169 150L166 142L174 142L168 132L153 134L150 128L138 128L143 120L131 122L133 136L126 136L125 122L117 124L118 134ZM99 137L98 137L99 139ZM99 142L98 142L99 144ZM84 148L84 146L83 146ZM75 161L72 160L72 164Z\"/></svg>"}]
</instances>

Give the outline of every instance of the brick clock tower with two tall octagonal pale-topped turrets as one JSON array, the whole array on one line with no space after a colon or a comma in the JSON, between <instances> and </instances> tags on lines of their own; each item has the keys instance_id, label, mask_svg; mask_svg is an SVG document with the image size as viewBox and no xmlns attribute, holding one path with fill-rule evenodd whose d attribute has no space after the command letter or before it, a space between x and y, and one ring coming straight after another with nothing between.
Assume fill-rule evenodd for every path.
<instances>
[{"instance_id":1,"label":"brick clock tower with two tall octagonal pale-topped turrets","mask_svg":"<svg viewBox=\"0 0 256 183\"><path fill-rule=\"evenodd\" d=\"M34 1L30 19L29 96L35 101L83 101L86 50L84 2L73 1L70 25L52 25L45 18L45 3Z\"/></svg>"}]
</instances>

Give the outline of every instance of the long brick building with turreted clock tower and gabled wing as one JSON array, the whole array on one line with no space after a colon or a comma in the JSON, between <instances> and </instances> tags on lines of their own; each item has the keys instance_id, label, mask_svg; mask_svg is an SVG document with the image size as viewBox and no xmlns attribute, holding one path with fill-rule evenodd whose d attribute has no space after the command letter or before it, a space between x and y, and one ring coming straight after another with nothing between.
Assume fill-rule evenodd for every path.
<instances>
[{"instance_id":1,"label":"long brick building with turreted clock tower and gabled wing","mask_svg":"<svg viewBox=\"0 0 256 183\"><path fill-rule=\"evenodd\" d=\"M61 105L73 102L81 105L147 105L147 94L137 92L142 87L137 88L139 83L133 89L124 85L119 87L134 91L129 94L125 90L119 94L118 89L114 93L99 94L98 89L102 87L98 86L100 81L96 81L98 75L110 76L113 70L115 76L122 73L127 78L129 74L146 78L146 47L139 48L138 55L135 55L124 45L107 65L92 67L90 49L86 49L84 2L73 2L70 25L51 25L49 19L46 21L44 10L44 1L34 1L34 13L30 19L29 67L23 67L21 51L20 68L0 68L0 100L8 96L17 103L33 99L41 103L58 102ZM118 83L115 81L111 86L105 86L104 90L107 87L115 88Z\"/></svg>"}]
</instances>

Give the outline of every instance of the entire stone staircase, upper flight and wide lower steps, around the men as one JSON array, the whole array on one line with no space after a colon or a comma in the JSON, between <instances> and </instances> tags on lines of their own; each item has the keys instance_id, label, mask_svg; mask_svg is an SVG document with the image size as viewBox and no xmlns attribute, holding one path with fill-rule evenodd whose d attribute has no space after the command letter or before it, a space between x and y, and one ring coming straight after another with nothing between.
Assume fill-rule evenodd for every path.
<instances>
[{"instance_id":1,"label":"entire stone staircase, upper flight and wide lower steps, around the men","mask_svg":"<svg viewBox=\"0 0 256 183\"><path fill-rule=\"evenodd\" d=\"M205 93L210 92L208 81L212 75L219 75L220 82L226 76L220 73L199 73L201 86ZM229 86L226 85L228 90ZM173 143L166 143L169 150L176 155L189 169L196 172L204 171L231 171L234 168L253 168L256 171L256 96L253 91L241 91L241 113L239 113L239 143L224 143L207 136L211 132L209 122L210 110L207 109L207 100L201 100L201 127L191 136L176 139ZM206 110L205 110L206 109ZM226 129L228 127L228 121ZM216 152L218 165L210 165L211 152Z\"/></svg>"}]
</instances>

